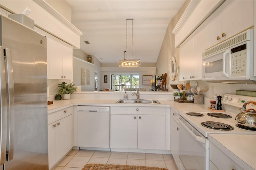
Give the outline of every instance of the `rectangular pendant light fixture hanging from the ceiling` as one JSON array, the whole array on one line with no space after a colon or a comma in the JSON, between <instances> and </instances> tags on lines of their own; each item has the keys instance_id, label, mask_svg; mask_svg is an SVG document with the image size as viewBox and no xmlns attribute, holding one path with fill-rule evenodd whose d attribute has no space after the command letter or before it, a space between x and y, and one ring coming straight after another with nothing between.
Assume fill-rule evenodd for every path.
<instances>
[{"instance_id":1,"label":"rectangular pendant light fixture hanging from the ceiling","mask_svg":"<svg viewBox=\"0 0 256 170\"><path fill-rule=\"evenodd\" d=\"M133 19L126 19L126 51L127 51L127 30L128 21L132 21L132 57L133 57ZM119 67L140 67L140 59L126 59L124 51L124 59L119 60Z\"/></svg>"}]
</instances>

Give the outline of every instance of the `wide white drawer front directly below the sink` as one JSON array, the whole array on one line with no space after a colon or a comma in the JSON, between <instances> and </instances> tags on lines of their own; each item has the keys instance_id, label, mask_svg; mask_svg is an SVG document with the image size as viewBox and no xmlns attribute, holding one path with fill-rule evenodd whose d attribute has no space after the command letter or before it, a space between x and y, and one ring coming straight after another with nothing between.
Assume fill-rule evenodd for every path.
<instances>
[{"instance_id":1,"label":"wide white drawer front directly below the sink","mask_svg":"<svg viewBox=\"0 0 256 170\"><path fill-rule=\"evenodd\" d=\"M165 107L112 106L110 114L115 115L166 115Z\"/></svg>"}]
</instances>

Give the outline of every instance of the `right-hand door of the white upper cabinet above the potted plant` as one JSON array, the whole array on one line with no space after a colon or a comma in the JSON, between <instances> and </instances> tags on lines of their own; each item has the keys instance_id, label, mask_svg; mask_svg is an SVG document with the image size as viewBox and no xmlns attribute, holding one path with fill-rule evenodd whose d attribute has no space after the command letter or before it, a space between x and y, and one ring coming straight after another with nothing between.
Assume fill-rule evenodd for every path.
<instances>
[{"instance_id":1,"label":"right-hand door of the white upper cabinet above the potted plant","mask_svg":"<svg viewBox=\"0 0 256 170\"><path fill-rule=\"evenodd\" d=\"M73 47L63 42L63 79L73 79Z\"/></svg>"}]
</instances>

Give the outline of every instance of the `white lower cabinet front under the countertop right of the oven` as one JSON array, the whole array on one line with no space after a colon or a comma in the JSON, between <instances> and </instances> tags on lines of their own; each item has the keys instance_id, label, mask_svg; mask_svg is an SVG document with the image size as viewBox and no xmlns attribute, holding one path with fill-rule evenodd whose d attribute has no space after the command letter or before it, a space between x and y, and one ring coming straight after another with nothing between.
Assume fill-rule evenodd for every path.
<instances>
[{"instance_id":1,"label":"white lower cabinet front under the countertop right of the oven","mask_svg":"<svg viewBox=\"0 0 256 170\"><path fill-rule=\"evenodd\" d=\"M210 170L242 170L236 162L210 142Z\"/></svg>"}]
</instances>

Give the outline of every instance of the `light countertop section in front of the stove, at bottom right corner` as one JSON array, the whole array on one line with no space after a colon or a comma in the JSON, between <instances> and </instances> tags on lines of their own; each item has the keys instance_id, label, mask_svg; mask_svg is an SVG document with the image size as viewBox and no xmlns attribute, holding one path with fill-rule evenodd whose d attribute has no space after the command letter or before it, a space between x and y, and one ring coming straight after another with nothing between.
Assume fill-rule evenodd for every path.
<instances>
[{"instance_id":1,"label":"light countertop section in front of the stove, at bottom right corner","mask_svg":"<svg viewBox=\"0 0 256 170\"><path fill-rule=\"evenodd\" d=\"M256 134L209 134L208 139L244 169L256 169Z\"/></svg>"}]
</instances>

